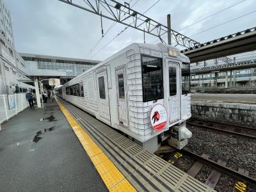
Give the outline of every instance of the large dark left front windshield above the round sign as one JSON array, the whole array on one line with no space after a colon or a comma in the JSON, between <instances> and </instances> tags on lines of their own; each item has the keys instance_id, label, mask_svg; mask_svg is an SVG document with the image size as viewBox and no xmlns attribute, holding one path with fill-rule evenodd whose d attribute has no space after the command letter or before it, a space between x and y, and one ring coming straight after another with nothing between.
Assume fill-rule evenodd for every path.
<instances>
[{"instance_id":1,"label":"large dark left front windshield above the round sign","mask_svg":"<svg viewBox=\"0 0 256 192\"><path fill-rule=\"evenodd\" d=\"M163 60L142 56L143 101L163 99Z\"/></svg>"}]
</instances>

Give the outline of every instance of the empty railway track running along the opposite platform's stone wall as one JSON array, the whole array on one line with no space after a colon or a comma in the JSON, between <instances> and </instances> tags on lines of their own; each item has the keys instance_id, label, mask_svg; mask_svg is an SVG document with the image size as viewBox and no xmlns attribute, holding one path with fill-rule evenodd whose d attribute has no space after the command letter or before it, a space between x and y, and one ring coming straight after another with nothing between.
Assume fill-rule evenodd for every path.
<instances>
[{"instance_id":1,"label":"empty railway track running along the opposite platform's stone wall","mask_svg":"<svg viewBox=\"0 0 256 192\"><path fill-rule=\"evenodd\" d=\"M220 132L227 132L229 134L234 134L237 136L242 136L244 138L250 138L256 140L256 129L251 127L243 127L238 125L228 125L222 124L220 122L207 121L191 119L187 122L188 125L202 127L205 129L212 129Z\"/></svg>"}]
</instances>

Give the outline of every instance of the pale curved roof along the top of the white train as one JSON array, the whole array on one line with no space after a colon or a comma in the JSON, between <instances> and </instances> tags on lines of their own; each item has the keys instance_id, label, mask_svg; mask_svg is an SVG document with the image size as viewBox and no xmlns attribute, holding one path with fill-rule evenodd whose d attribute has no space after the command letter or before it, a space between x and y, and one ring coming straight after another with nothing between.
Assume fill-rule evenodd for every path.
<instances>
[{"instance_id":1,"label":"pale curved roof along the top of the white train","mask_svg":"<svg viewBox=\"0 0 256 192\"><path fill-rule=\"evenodd\" d=\"M163 43L159 43L159 44L143 44L143 43L133 43L131 45L128 45L127 47L125 47L124 49L116 52L115 54L113 54L112 56L110 56L108 59L101 61L100 63L98 63L97 65L93 66L92 68L86 70L85 72L83 72L83 74L80 74L79 76L83 76L84 74L87 74L88 72L91 72L92 70L94 70L95 68L98 68L102 65L105 65L106 63L108 63L109 61L113 60L114 58L116 58L117 56L119 56L120 54L124 54L125 52L131 50L131 49L140 49L140 48L144 48L144 49L150 49L152 51L157 51L157 52L168 52L169 48L174 49L175 51L179 52L179 56L180 58L182 58L183 60L186 60L186 62L189 63L189 58L182 54L180 52L180 50L177 47L173 47L172 45L166 45ZM72 79L71 81L69 81L68 83L72 83L72 81L74 81L75 79L77 79L79 76L75 77L74 79ZM67 84L67 83L66 83Z\"/></svg>"}]
</instances>

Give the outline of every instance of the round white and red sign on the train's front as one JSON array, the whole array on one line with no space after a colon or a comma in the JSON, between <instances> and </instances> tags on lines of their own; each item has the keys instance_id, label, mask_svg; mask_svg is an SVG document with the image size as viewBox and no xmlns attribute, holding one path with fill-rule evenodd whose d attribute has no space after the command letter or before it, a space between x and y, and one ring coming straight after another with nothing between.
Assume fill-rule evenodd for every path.
<instances>
[{"instance_id":1,"label":"round white and red sign on the train's front","mask_svg":"<svg viewBox=\"0 0 256 192\"><path fill-rule=\"evenodd\" d=\"M166 109L161 104L156 104L150 114L150 122L156 131L161 131L167 122Z\"/></svg>"}]
</instances>

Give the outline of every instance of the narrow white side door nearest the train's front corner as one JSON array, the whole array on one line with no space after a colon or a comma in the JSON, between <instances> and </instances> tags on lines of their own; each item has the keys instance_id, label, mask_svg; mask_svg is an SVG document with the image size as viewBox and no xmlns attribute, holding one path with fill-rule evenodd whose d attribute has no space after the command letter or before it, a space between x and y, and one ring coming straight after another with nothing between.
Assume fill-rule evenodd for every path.
<instances>
[{"instance_id":1,"label":"narrow white side door nearest the train's front corner","mask_svg":"<svg viewBox=\"0 0 256 192\"><path fill-rule=\"evenodd\" d=\"M121 125L128 127L127 86L125 77L125 66L116 69L115 73L118 104L118 120Z\"/></svg>"}]
</instances>

